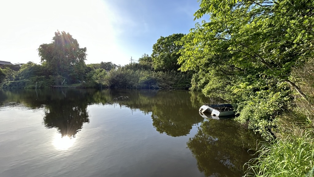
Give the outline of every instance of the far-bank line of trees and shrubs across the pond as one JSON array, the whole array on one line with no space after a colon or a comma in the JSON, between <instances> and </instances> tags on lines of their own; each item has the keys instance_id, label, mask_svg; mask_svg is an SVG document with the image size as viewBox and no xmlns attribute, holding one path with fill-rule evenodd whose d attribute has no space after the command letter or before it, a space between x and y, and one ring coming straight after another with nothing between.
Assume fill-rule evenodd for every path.
<instances>
[{"instance_id":1,"label":"far-bank line of trees and shrubs across the pond","mask_svg":"<svg viewBox=\"0 0 314 177\"><path fill-rule=\"evenodd\" d=\"M152 56L143 54L138 63L86 65L86 48L80 48L69 33L57 31L52 43L38 48L41 64L6 65L0 69L0 84L2 88L47 88L62 84L84 88L188 89L192 75L178 71L177 65L180 47L175 41L181 37L183 34L161 37L153 46Z\"/></svg>"}]
</instances>

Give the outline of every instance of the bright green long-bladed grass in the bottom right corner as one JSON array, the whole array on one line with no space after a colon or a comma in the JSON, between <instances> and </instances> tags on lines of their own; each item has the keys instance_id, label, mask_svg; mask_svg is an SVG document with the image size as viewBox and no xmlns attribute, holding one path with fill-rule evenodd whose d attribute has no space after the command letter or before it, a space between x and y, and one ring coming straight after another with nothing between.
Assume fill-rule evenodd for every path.
<instances>
[{"instance_id":1,"label":"bright green long-bladed grass in the bottom right corner","mask_svg":"<svg viewBox=\"0 0 314 177\"><path fill-rule=\"evenodd\" d=\"M259 157L246 163L246 177L312 177L314 171L313 129L303 130L303 136L293 134L284 139L263 142Z\"/></svg>"}]
</instances>

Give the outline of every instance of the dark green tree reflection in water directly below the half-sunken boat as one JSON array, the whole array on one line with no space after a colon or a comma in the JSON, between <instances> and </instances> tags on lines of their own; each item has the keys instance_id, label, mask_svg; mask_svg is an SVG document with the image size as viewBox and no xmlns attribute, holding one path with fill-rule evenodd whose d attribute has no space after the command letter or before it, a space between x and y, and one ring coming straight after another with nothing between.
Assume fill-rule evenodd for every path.
<instances>
[{"instance_id":1,"label":"dark green tree reflection in water directly below the half-sunken boat","mask_svg":"<svg viewBox=\"0 0 314 177\"><path fill-rule=\"evenodd\" d=\"M256 148L256 135L230 119L204 121L187 147L206 176L242 176L243 165ZM249 151L253 154L253 151Z\"/></svg>"}]
</instances>

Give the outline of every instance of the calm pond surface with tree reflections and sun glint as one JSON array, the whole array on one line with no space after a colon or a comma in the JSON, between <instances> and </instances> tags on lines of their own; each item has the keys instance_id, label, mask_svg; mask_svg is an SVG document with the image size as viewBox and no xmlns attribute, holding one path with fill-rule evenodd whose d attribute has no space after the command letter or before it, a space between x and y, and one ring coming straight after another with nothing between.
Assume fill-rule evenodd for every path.
<instances>
[{"instance_id":1,"label":"calm pond surface with tree reflections and sun glint","mask_svg":"<svg viewBox=\"0 0 314 177\"><path fill-rule=\"evenodd\" d=\"M257 137L201 117L205 102L188 91L0 89L0 176L242 176Z\"/></svg>"}]
</instances>

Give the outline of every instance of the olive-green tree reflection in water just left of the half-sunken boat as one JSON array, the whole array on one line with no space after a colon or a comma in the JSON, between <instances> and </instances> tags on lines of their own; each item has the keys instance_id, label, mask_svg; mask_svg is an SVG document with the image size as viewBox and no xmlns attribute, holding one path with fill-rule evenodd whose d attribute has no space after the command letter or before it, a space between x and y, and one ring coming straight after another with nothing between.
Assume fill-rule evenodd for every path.
<instances>
[{"instance_id":1,"label":"olive-green tree reflection in water just left of the half-sunken boat","mask_svg":"<svg viewBox=\"0 0 314 177\"><path fill-rule=\"evenodd\" d=\"M171 90L132 90L127 93L131 99L119 101L120 106L139 109L144 113L151 112L153 126L160 133L173 137L184 136L189 134L193 125L203 120L198 114L198 106L194 106L200 105L195 104L199 98L205 98L201 93Z\"/></svg>"}]
</instances>

